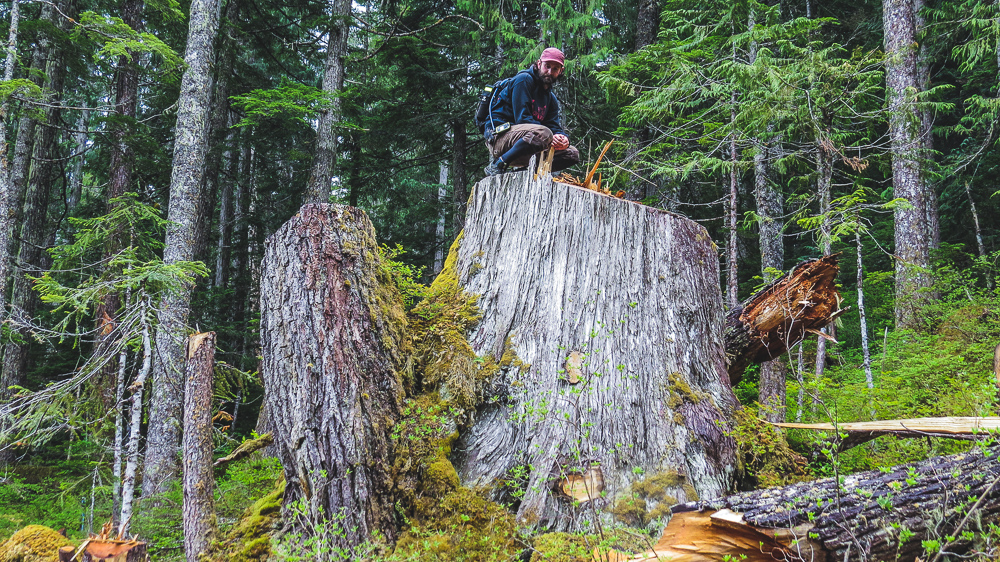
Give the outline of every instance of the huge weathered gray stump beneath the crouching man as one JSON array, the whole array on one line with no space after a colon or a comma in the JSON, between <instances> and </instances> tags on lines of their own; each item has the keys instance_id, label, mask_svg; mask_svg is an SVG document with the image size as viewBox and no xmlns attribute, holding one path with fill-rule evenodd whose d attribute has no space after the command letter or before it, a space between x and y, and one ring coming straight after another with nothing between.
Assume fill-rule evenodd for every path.
<instances>
[{"instance_id":1,"label":"huge weathered gray stump beneath the crouching man","mask_svg":"<svg viewBox=\"0 0 1000 562\"><path fill-rule=\"evenodd\" d=\"M463 484L522 474L519 520L554 529L582 528L643 478L668 481L650 511L731 486L737 402L716 248L700 225L505 174L475 187L448 261L479 296L470 345L502 358L455 448ZM553 490L598 470L592 505Z\"/></svg>"}]
</instances>

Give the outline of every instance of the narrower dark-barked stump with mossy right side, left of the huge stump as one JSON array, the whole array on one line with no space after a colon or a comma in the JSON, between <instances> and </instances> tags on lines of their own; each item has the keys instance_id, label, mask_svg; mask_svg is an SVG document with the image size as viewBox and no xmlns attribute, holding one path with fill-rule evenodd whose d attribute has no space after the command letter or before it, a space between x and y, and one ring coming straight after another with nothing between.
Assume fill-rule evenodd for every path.
<instances>
[{"instance_id":1,"label":"narrower dark-barked stump with mossy right side, left of the huge stump","mask_svg":"<svg viewBox=\"0 0 1000 562\"><path fill-rule=\"evenodd\" d=\"M261 281L265 408L286 506L343 517L342 546L395 538L390 437L410 345L359 209L306 205L268 241Z\"/></svg>"}]
</instances>

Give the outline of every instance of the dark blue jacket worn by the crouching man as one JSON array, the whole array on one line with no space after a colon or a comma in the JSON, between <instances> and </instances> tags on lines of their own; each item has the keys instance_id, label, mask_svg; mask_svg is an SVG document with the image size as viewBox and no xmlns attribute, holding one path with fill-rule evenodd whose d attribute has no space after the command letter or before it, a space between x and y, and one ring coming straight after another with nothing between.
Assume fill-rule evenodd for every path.
<instances>
[{"instance_id":1,"label":"dark blue jacket worn by the crouching man","mask_svg":"<svg viewBox=\"0 0 1000 562\"><path fill-rule=\"evenodd\" d=\"M532 123L548 127L554 135L566 134L559 122L559 100L551 89L545 89L534 65L518 72L495 94L490 104L490 117L492 126L487 124L487 128L496 128L501 123Z\"/></svg>"}]
</instances>

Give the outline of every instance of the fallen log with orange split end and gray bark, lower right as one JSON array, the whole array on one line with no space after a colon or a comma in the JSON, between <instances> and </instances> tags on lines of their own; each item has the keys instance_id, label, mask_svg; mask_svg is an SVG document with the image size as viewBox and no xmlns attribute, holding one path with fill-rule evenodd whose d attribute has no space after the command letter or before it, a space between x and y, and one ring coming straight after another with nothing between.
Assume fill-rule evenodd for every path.
<instances>
[{"instance_id":1,"label":"fallen log with orange split end and gray bark, lower right","mask_svg":"<svg viewBox=\"0 0 1000 562\"><path fill-rule=\"evenodd\" d=\"M678 505L650 551L594 558L933 562L967 553L1000 514L998 450Z\"/></svg>"}]
</instances>

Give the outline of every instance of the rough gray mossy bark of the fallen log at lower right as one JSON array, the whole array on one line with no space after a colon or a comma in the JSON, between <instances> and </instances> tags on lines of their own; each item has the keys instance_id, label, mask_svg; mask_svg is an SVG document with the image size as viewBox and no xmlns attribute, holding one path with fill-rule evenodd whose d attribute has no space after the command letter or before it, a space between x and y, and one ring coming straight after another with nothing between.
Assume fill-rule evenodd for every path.
<instances>
[{"instance_id":1,"label":"rough gray mossy bark of the fallen log at lower right","mask_svg":"<svg viewBox=\"0 0 1000 562\"><path fill-rule=\"evenodd\" d=\"M837 479L825 478L693 502L674 511L730 509L765 534L797 527L797 538L804 541L808 533L831 561L913 560L924 554L924 540L938 540L947 552L967 551L971 543L961 531L980 535L1000 515L998 481L997 449L984 455L975 448L889 472L853 474L840 486ZM794 549L794 544L788 548L786 559L795 559Z\"/></svg>"}]
</instances>

